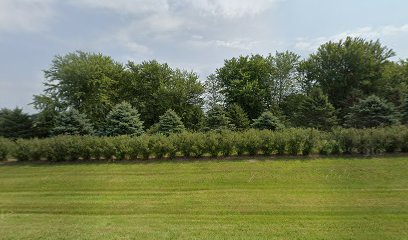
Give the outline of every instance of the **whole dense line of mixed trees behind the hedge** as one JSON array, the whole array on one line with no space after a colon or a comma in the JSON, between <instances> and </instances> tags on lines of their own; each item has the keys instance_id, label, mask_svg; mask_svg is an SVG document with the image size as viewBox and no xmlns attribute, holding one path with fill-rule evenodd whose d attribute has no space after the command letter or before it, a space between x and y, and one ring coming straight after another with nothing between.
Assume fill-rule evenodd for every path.
<instances>
[{"instance_id":1,"label":"whole dense line of mixed trees behind the hedge","mask_svg":"<svg viewBox=\"0 0 408 240\"><path fill-rule=\"evenodd\" d=\"M379 41L328 42L293 52L225 60L205 82L157 61L121 64L102 54L56 56L38 114L0 111L0 136L170 135L185 130L331 130L408 122L408 60Z\"/></svg>"}]
</instances>

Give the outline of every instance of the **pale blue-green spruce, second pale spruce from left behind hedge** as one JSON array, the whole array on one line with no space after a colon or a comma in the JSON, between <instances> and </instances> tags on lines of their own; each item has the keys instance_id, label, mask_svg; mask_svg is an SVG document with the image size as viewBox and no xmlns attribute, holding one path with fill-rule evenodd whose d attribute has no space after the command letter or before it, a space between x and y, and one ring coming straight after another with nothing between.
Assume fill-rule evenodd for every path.
<instances>
[{"instance_id":1,"label":"pale blue-green spruce, second pale spruce from left behind hedge","mask_svg":"<svg viewBox=\"0 0 408 240\"><path fill-rule=\"evenodd\" d=\"M122 102L113 107L105 123L105 135L139 136L143 133L143 122L139 112L129 103Z\"/></svg>"}]
</instances>

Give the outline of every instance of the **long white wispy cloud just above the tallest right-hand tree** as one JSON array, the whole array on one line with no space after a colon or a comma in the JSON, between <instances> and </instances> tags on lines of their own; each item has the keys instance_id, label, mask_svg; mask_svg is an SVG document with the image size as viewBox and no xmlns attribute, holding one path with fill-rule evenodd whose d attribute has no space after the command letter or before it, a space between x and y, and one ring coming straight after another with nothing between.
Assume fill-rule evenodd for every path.
<instances>
[{"instance_id":1,"label":"long white wispy cloud just above the tallest right-hand tree","mask_svg":"<svg viewBox=\"0 0 408 240\"><path fill-rule=\"evenodd\" d=\"M298 38L295 48L304 51L314 51L320 45L329 41L339 41L346 37L363 37L367 39L379 39L384 37L393 37L403 33L408 33L408 24L402 26L382 26L382 27L362 27L353 31L345 31L329 37L318 38Z\"/></svg>"}]
</instances>

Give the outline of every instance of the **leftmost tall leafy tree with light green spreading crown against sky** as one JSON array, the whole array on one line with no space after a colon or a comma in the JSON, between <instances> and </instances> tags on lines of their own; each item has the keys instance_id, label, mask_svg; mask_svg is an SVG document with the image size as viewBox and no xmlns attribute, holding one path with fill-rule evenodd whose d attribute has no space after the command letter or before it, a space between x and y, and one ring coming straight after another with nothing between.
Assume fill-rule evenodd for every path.
<instances>
[{"instance_id":1,"label":"leftmost tall leafy tree with light green spreading crown against sky","mask_svg":"<svg viewBox=\"0 0 408 240\"><path fill-rule=\"evenodd\" d=\"M110 57L81 51L55 56L44 73L46 89L34 99L40 110L74 108L93 122L102 122L118 102L115 89L123 77L123 66Z\"/></svg>"}]
</instances>

